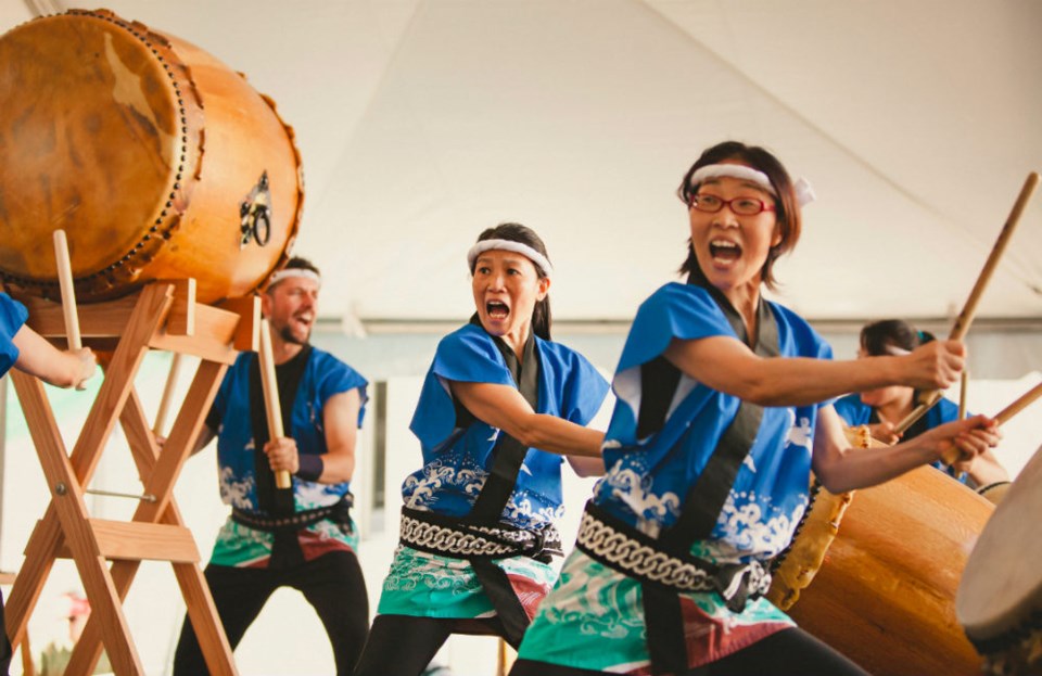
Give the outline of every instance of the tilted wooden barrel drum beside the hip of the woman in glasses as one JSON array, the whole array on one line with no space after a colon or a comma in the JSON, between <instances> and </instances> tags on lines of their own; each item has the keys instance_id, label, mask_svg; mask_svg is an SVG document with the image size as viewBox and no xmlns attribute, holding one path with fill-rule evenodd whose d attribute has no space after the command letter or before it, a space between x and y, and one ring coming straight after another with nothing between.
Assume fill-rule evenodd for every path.
<instances>
[{"instance_id":1,"label":"tilted wooden barrel drum beside the hip of the woman in glasses","mask_svg":"<svg viewBox=\"0 0 1042 676\"><path fill-rule=\"evenodd\" d=\"M872 674L979 674L955 591L994 506L931 467L821 489L768 598Z\"/></svg>"}]
</instances>

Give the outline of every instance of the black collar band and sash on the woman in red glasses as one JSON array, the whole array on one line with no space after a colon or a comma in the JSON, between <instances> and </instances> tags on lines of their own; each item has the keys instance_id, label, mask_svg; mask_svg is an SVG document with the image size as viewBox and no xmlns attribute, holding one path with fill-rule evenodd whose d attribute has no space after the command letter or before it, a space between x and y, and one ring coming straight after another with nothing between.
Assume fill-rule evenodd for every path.
<instances>
[{"instance_id":1,"label":"black collar band and sash on the woman in red glasses","mask_svg":"<svg viewBox=\"0 0 1042 676\"><path fill-rule=\"evenodd\" d=\"M759 335L749 336L741 315L735 310L730 302L714 286L700 282L701 280L695 276L688 280L688 283L699 283L709 291L716 305L723 310L732 329L757 355L777 357L780 354L778 327L774 313L762 297L757 308ZM655 368L659 372L664 371L661 365ZM673 369L677 371L677 375L672 380L672 390L664 397L660 390L660 394L650 399L653 403L652 406L657 406L662 416L660 421L646 421L646 424L652 428L651 431L657 431L664 423L666 409L662 408L662 400L663 398L666 401L672 399L673 391L679 382L679 372L676 367L673 367ZM655 383L646 381L645 374L646 371L641 368L641 390L644 391L641 393L641 413L644 412L643 399L646 396L647 386L655 386ZM666 382L671 381L668 380ZM658 404L655 404L656 401ZM727 500L732 486L734 486L738 470L752 449L757 433L760 431L762 418L763 407L748 401L739 403L734 420L717 443L706 469L702 470L698 481L688 489L679 518L659 537L663 551L687 554L691 545L697 540L708 538L712 534L720 511ZM643 416L640 419L643 420ZM679 596L677 596L675 589L653 583L643 583L640 588L644 598L645 622L648 630L648 653L651 658L652 673L665 674L686 671L688 668L687 646L684 639L684 618L681 612ZM735 612L740 612L745 608L746 600L746 595L740 594L728 600L727 607Z\"/></svg>"}]
</instances>

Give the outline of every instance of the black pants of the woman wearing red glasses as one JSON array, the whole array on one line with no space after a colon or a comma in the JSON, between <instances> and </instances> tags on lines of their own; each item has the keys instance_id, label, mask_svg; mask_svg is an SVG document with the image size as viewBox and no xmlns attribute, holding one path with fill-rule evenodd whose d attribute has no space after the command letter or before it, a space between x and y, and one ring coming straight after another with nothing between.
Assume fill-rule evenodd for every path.
<instances>
[{"instance_id":1,"label":"black pants of the woman wearing red glasses","mask_svg":"<svg viewBox=\"0 0 1042 676\"><path fill-rule=\"evenodd\" d=\"M601 672L518 660L510 676L593 676ZM803 629L783 629L683 676L868 676Z\"/></svg>"}]
</instances>

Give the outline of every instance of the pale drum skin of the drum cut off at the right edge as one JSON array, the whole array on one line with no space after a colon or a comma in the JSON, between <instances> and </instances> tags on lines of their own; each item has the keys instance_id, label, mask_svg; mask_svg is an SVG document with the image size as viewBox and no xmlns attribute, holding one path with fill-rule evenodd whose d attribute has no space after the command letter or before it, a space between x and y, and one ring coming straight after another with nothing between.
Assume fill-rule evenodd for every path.
<instances>
[{"instance_id":1,"label":"pale drum skin of the drum cut off at the right edge","mask_svg":"<svg viewBox=\"0 0 1042 676\"><path fill-rule=\"evenodd\" d=\"M1002 639L1042 609L1042 448L1009 486L977 540L955 612L966 635Z\"/></svg>"}]
</instances>

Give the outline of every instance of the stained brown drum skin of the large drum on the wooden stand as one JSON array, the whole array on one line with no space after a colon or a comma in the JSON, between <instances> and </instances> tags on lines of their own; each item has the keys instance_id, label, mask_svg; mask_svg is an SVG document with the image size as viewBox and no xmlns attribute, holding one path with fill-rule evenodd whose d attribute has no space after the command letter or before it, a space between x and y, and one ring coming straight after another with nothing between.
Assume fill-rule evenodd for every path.
<instances>
[{"instance_id":1,"label":"stained brown drum skin of the large drum on the wooden stand","mask_svg":"<svg viewBox=\"0 0 1042 676\"><path fill-rule=\"evenodd\" d=\"M177 112L162 64L115 24L56 16L0 40L0 266L55 278L47 224L75 241L77 277L132 248L173 190L186 145Z\"/></svg>"}]
</instances>

